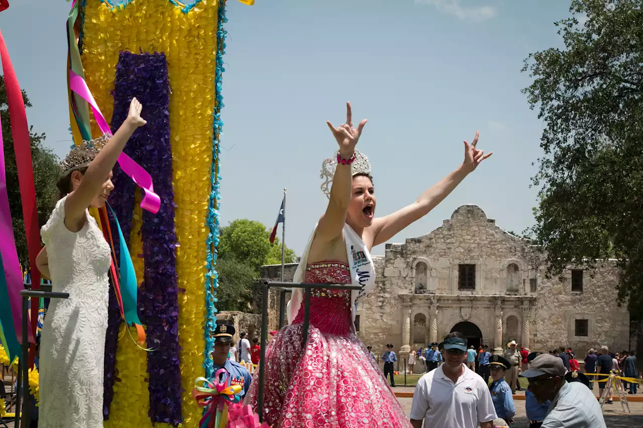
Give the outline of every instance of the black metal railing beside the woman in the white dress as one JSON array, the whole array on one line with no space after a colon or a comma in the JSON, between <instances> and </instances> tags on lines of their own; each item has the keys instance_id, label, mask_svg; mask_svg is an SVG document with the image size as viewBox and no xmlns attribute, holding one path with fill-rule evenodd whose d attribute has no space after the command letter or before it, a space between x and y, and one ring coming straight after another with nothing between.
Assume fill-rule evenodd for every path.
<instances>
[{"instance_id":1,"label":"black metal railing beside the woman in the white dress","mask_svg":"<svg viewBox=\"0 0 643 428\"><path fill-rule=\"evenodd\" d=\"M25 284L30 286L30 284ZM31 395L29 393L29 298L49 298L49 299L68 299L69 293L60 293L51 291L50 284L41 284L40 289L32 290L30 288L21 290L20 295L23 298L23 356L18 360L18 385L15 397L15 422L14 427L20 428L21 414L23 427L29 427L31 424ZM38 314L32 314L37 317ZM35 338L34 338L35 339ZM4 388L4 386L3 386ZM23 398L23 407L21 409L21 397Z\"/></svg>"}]
</instances>

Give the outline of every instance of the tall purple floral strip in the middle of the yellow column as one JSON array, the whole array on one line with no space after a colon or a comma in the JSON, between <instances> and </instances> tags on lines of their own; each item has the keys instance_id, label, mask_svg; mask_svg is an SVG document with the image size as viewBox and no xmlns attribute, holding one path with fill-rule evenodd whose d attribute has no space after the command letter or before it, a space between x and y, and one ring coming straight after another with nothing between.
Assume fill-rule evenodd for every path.
<instances>
[{"instance_id":1,"label":"tall purple floral strip in the middle of the yellow column","mask_svg":"<svg viewBox=\"0 0 643 428\"><path fill-rule=\"evenodd\" d=\"M176 274L177 246L174 231L174 191L172 190L172 148L170 146L170 85L167 60L163 53L121 52L114 78L114 114L111 128L118 129L127 118L129 103L136 98L143 105L147 125L136 130L125 145L126 154L137 161L154 182L161 198L161 209L154 215L143 211L141 239L145 271L138 289L138 311L147 326L147 354L152 423L175 427L181 415L181 371L179 368L179 303ZM110 204L120 220L129 219L134 209L135 184L117 166L116 191ZM129 241L131 221L122 225ZM141 351L143 352L143 351Z\"/></svg>"}]
</instances>

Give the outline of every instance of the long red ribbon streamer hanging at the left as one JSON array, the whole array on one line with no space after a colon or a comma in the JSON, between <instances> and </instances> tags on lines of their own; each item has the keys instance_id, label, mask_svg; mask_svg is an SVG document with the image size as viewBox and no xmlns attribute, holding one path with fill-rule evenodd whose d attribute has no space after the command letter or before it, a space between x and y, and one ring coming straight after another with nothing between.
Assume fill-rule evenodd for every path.
<instances>
[{"instance_id":1,"label":"long red ribbon streamer hanging at the left","mask_svg":"<svg viewBox=\"0 0 643 428\"><path fill-rule=\"evenodd\" d=\"M24 111L23 93L15 76L14 66L11 64L9 52L6 49L5 39L0 31L0 58L2 58L3 72L5 73L6 98L9 103L9 117L11 120L11 133L14 137L15 164L18 170L18 183L20 197L23 202L24 231L27 238L29 252L29 265L32 274L32 289L40 288L40 272L36 268L36 256L41 251L40 227L38 224L38 207L36 204L36 188L33 183L33 164L31 140L27 125L27 114ZM38 299L32 299L32 329L29 332L29 341L34 342L36 335ZM32 347L33 348L33 347ZM33 364L33 349L30 352L30 364Z\"/></svg>"}]
</instances>

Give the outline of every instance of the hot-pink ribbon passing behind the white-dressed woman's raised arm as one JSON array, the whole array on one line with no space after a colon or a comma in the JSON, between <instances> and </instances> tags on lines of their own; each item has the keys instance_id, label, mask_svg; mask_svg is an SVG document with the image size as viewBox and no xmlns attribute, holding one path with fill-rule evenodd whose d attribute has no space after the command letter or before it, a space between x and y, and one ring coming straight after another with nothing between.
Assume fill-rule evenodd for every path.
<instances>
[{"instance_id":1,"label":"hot-pink ribbon passing behind the white-dressed woman's raised arm","mask_svg":"<svg viewBox=\"0 0 643 428\"><path fill-rule=\"evenodd\" d=\"M87 83L82 77L78 76L71 70L69 70L69 88L84 98L84 100L91 105L91 110L94 112L94 118L98 127L104 134L111 135L112 132L109 129L109 125L107 125L107 121L105 121L105 117L102 112L100 112L91 92L89 92ZM118 165L121 166L123 172L129 175L134 183L138 184L138 186L143 189L141 208L152 214L158 213L161 208L161 198L159 198L159 195L154 193L152 177L150 177L143 167L134 162L134 160L125 153L121 153L120 156L118 156Z\"/></svg>"}]
</instances>

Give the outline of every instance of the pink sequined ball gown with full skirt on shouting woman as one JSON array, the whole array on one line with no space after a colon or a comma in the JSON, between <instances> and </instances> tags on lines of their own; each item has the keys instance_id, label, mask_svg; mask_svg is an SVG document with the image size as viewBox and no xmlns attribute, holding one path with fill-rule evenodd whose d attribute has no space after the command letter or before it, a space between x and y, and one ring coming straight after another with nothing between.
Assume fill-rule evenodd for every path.
<instances>
[{"instance_id":1,"label":"pink sequined ball gown with full skirt on shouting woman","mask_svg":"<svg viewBox=\"0 0 643 428\"><path fill-rule=\"evenodd\" d=\"M350 283L349 267L306 267L307 283ZM314 289L302 350L302 307L266 350L264 422L272 428L410 427L383 373L355 334L349 290ZM258 371L246 403L257 409Z\"/></svg>"}]
</instances>

